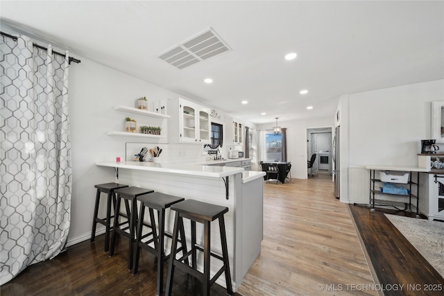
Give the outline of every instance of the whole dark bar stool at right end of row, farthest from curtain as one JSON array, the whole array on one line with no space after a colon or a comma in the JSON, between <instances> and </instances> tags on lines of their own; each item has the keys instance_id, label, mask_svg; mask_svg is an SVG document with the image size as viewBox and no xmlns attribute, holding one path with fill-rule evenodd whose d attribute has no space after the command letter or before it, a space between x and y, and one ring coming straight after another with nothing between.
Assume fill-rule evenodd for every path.
<instances>
[{"instance_id":1,"label":"whole dark bar stool at right end of row, farthest from curtain","mask_svg":"<svg viewBox=\"0 0 444 296\"><path fill-rule=\"evenodd\" d=\"M200 202L197 200L185 200L178 202L171 206L173 211L176 211L176 217L174 219L173 229L173 243L171 245L171 260L169 261L169 270L167 278L167 291L165 295L171 295L171 289L173 287L173 275L174 268L178 267L180 270L189 273L196 277L203 283L203 295L210 295L210 286L216 281L216 279L225 272L225 284L227 285L227 293L233 294L231 286L230 275L230 263L228 262L228 248L227 237L225 235L225 221L223 214L228 212L228 207L221 207L215 204L208 204L206 202ZM178 244L178 229L183 227L183 218L191 220L191 250L182 256L180 259L176 259L177 244ZM221 232L221 245L222 256L211 252L210 248L210 234L211 234L211 222L219 218L219 231ZM196 222L203 223L203 248L196 245ZM197 270L196 266L196 251L203 251L203 273ZM191 267L185 261L185 258L191 256ZM222 268L216 272L216 275L210 279L210 256L223 261Z\"/></svg>"}]
</instances>

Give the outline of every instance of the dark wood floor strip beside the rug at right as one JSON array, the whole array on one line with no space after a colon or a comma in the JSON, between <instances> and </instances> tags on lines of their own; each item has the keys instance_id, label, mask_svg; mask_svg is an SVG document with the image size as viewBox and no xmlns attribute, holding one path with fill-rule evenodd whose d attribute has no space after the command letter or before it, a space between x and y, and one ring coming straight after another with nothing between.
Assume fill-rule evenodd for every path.
<instances>
[{"instance_id":1,"label":"dark wood floor strip beside the rug at right","mask_svg":"<svg viewBox=\"0 0 444 296\"><path fill-rule=\"evenodd\" d=\"M444 295L443 277L404 238L384 212L414 215L386 209L371 212L368 207L351 204L350 211L365 246L375 283L385 288L384 295Z\"/></svg>"}]
</instances>

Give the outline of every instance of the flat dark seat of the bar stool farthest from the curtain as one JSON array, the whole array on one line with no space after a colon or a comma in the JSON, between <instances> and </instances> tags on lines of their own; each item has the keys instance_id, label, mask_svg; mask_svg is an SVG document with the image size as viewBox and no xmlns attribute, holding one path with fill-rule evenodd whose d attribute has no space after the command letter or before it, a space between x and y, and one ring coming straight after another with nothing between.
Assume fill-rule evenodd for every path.
<instances>
[{"instance_id":1,"label":"flat dark seat of the bar stool farthest from the curtain","mask_svg":"<svg viewBox=\"0 0 444 296\"><path fill-rule=\"evenodd\" d=\"M190 217L196 217L207 221L214 221L219 216L228 212L228 207L200 202L198 200L184 200L173 204L171 209L179 211Z\"/></svg>"}]
</instances>

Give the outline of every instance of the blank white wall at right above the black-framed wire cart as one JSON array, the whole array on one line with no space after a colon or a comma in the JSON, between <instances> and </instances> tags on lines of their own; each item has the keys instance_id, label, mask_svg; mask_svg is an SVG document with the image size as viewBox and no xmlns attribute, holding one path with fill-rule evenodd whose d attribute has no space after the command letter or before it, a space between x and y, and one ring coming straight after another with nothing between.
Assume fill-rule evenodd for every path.
<instances>
[{"instance_id":1,"label":"blank white wall at right above the black-framed wire cart","mask_svg":"<svg viewBox=\"0 0 444 296\"><path fill-rule=\"evenodd\" d=\"M436 80L349 94L347 100L341 100L340 108L346 110L341 116L347 119L345 126L341 121L341 143L345 145L341 165L342 160L346 164L341 166L341 201L368 200L368 184L350 183L350 169L356 173L366 165L418 166L420 140L432 137L431 102L443 98L444 80ZM352 196L342 195L343 185Z\"/></svg>"}]
</instances>

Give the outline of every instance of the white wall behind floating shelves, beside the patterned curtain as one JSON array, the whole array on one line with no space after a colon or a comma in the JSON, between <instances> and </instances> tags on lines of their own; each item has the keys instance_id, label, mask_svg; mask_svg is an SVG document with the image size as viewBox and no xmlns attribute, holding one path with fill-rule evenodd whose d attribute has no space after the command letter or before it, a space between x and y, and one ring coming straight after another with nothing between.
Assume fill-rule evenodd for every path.
<instances>
[{"instance_id":1,"label":"white wall behind floating shelves, beside the patterned curtain","mask_svg":"<svg viewBox=\"0 0 444 296\"><path fill-rule=\"evenodd\" d=\"M114 170L95 165L96 162L114 161L117 156L125 158L126 142L138 142L140 146L158 140L139 140L131 137L107 135L112 130L123 131L126 116L135 115L117 112L114 107L125 105L135 107L135 100L141 96L160 100L180 96L151 83L128 76L114 69L77 56L82 62L69 68L69 116L71 121L71 153L73 188L71 198L71 229L68 245L87 239L92 227L95 184L114 182ZM221 112L218 112L221 114ZM224 116L221 114L223 121ZM145 119L146 120L146 119ZM151 119L148 119L151 120ZM174 121L171 119L169 124ZM255 128L252 123L246 123ZM153 124L154 125L154 124ZM167 131L163 128L162 131ZM178 161L180 157L202 157L200 145L169 144L160 141L165 153L162 156ZM133 145L137 146L137 144ZM182 153L181 156L179 153ZM185 156L184 156L185 155ZM103 199L104 200L104 199ZM105 216L105 202L101 204ZM98 225L100 228L101 225Z\"/></svg>"}]
</instances>

